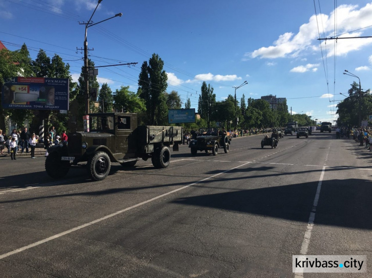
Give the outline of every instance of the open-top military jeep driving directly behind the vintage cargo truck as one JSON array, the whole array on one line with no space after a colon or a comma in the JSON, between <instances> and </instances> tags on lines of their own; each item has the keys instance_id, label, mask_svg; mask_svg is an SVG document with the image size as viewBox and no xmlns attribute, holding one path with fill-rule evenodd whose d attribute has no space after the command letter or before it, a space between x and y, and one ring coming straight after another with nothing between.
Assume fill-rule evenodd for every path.
<instances>
[{"instance_id":1,"label":"open-top military jeep driving directly behind the vintage cargo truck","mask_svg":"<svg viewBox=\"0 0 372 278\"><path fill-rule=\"evenodd\" d=\"M201 128L196 140L191 140L188 147L192 155L196 155L198 150L205 153L211 150L213 155L217 155L219 148L223 148L225 153L228 153L230 144L230 136L220 135L218 128Z\"/></svg>"}]
</instances>

